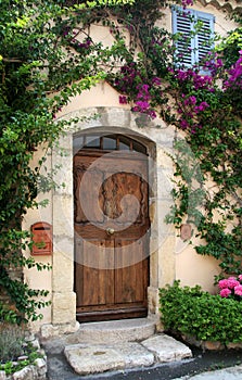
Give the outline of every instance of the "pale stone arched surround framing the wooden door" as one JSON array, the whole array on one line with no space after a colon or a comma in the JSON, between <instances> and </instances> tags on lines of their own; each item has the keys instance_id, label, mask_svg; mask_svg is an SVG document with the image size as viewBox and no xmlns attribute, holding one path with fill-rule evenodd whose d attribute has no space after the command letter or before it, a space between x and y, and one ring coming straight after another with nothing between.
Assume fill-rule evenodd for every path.
<instances>
[{"instance_id":1,"label":"pale stone arched surround framing the wooden door","mask_svg":"<svg viewBox=\"0 0 242 380\"><path fill-rule=\"evenodd\" d=\"M93 118L91 116L98 115ZM163 121L151 121L144 114L120 107L81 109L61 116L71 121L79 117L59 141L60 152L53 151L52 165L61 164L56 174L59 183L53 193L53 280L52 326L62 326L62 331L74 331L76 324L76 296L73 291L74 228L73 228L73 136L81 131L105 131L130 136L148 149L150 156L150 218L151 256L149 315L158 318L158 288L175 279L175 231L164 221L171 205L173 161L167 153L173 151L174 129ZM64 151L64 154L63 154Z\"/></svg>"}]
</instances>

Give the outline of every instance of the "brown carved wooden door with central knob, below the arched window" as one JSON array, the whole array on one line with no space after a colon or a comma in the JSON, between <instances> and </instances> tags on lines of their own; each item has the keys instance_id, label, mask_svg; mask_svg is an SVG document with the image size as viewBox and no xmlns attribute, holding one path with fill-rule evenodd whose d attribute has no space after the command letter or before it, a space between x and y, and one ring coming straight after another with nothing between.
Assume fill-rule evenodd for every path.
<instances>
[{"instance_id":1,"label":"brown carved wooden door with central knob, below the arched window","mask_svg":"<svg viewBox=\"0 0 242 380\"><path fill-rule=\"evenodd\" d=\"M79 151L74 200L77 319L147 316L147 156Z\"/></svg>"}]
</instances>

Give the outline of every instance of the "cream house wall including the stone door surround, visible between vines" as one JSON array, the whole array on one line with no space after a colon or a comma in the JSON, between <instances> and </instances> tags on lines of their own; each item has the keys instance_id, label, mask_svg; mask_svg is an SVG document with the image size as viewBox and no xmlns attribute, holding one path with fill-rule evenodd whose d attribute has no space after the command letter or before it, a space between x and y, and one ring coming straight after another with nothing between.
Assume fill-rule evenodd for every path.
<instances>
[{"instance_id":1,"label":"cream house wall including the stone door surround, visible between vines","mask_svg":"<svg viewBox=\"0 0 242 380\"><path fill-rule=\"evenodd\" d=\"M233 28L232 21L226 20L222 12L218 12L212 5L196 4L194 9L213 13L216 16L216 31L225 34ZM166 11L165 21L168 28L171 27L170 12ZM105 43L110 43L110 37L103 26L93 28L94 38L102 36ZM100 83L89 91L74 97L58 117L69 118L75 115L91 115L98 113L101 116L93 121L81 122L73 126L73 130L60 140L66 154L60 154L55 150L47 156L46 166L53 168L60 164L61 169L55 180L65 187L60 187L48 194L39 194L38 199L49 200L43 208L28 211L24 219L24 228L29 229L36 221L48 221L53 225L53 255L36 256L41 263L50 263L51 271L38 273L36 269L25 270L25 279L33 288L44 288L50 291L52 305L44 308L43 319L34 324L38 330L46 325L46 333L74 331L77 328L75 321L76 299L73 291L73 263L74 263L74 227L73 227L73 134L81 130L112 131L131 134L148 147L150 153L150 181L152 194L150 197L151 226L151 269L149 288L149 312L157 314L158 287L171 283L180 279L182 284L201 284L205 290L214 291L214 276L219 269L217 262L209 257L200 256L193 245L182 241L173 226L164 223L173 199L173 161L167 153L173 154L175 130L161 119L149 121L144 115L137 115L129 111L129 105L120 105L118 93L110 85ZM160 129L156 126L160 125ZM36 154L36 162L41 155L41 149ZM35 165L35 162L34 162ZM195 242L194 242L195 243ZM29 252L25 253L29 255ZM55 326L55 327L54 327ZM49 329L49 330L48 330Z\"/></svg>"}]
</instances>

